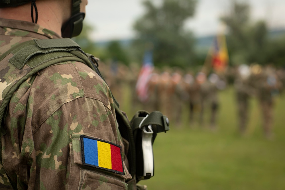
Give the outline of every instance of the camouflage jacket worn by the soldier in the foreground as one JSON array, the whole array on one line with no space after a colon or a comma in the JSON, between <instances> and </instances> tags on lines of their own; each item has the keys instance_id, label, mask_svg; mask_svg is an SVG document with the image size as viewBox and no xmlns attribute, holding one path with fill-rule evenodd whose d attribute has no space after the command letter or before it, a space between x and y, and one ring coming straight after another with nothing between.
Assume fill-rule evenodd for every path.
<instances>
[{"instance_id":1,"label":"camouflage jacket worn by the soldier in the foreground","mask_svg":"<svg viewBox=\"0 0 285 190\"><path fill-rule=\"evenodd\" d=\"M1 55L28 40L61 38L37 24L8 19L0 19L0 36ZM19 70L8 59L0 62L0 103L5 89L28 67ZM0 169L18 189L127 189L125 180L131 179L109 87L83 63L55 64L22 83L9 103L1 133ZM95 149L93 141L83 145L83 135L109 147L120 145L123 174L104 163L101 168L82 164L82 148ZM0 183L7 181L0 176Z\"/></svg>"}]
</instances>

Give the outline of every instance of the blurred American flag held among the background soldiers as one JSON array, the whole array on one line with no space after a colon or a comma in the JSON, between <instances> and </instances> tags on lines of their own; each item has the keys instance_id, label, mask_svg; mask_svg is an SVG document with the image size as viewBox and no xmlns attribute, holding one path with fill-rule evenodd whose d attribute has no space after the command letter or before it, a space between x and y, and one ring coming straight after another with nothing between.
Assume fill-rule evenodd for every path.
<instances>
[{"instance_id":1,"label":"blurred American flag held among the background soldiers","mask_svg":"<svg viewBox=\"0 0 285 190\"><path fill-rule=\"evenodd\" d=\"M153 69L152 51L146 51L144 53L143 66L136 84L136 92L141 102L146 102L148 99L148 81Z\"/></svg>"}]
</instances>

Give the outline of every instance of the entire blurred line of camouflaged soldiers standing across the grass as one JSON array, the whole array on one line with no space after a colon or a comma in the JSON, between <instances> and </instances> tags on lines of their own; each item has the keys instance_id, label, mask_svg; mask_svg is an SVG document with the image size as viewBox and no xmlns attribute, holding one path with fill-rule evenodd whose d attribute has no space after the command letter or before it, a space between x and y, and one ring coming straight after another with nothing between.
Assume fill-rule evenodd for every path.
<instances>
[{"instance_id":1,"label":"entire blurred line of camouflaged soldiers standing across the grass","mask_svg":"<svg viewBox=\"0 0 285 190\"><path fill-rule=\"evenodd\" d=\"M103 64L102 64L103 65ZM110 74L108 64L102 69L116 98L122 98L123 85L131 89L132 108L147 111L159 110L170 118L172 127L186 123L190 127L201 126L217 129L219 113L218 92L232 85L238 115L237 130L247 133L250 100L256 98L262 115L262 125L267 138L272 138L274 96L282 93L285 86L285 70L258 64L230 67L225 73L184 71L179 68L154 69L148 80L148 99L140 102L135 91L140 68L133 64L117 65ZM127 103L120 99L121 104ZM186 112L185 112L186 111Z\"/></svg>"}]
</instances>

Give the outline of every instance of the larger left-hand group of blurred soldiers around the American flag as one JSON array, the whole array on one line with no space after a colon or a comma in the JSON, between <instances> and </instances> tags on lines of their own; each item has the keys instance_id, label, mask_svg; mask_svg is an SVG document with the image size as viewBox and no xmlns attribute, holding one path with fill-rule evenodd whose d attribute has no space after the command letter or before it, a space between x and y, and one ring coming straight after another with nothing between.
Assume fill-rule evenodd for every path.
<instances>
[{"instance_id":1,"label":"larger left-hand group of blurred soldiers around the American flag","mask_svg":"<svg viewBox=\"0 0 285 190\"><path fill-rule=\"evenodd\" d=\"M130 99L134 110L138 107L149 112L159 110L167 115L172 126L177 128L182 126L183 118L187 118L190 126L198 124L209 126L213 130L216 128L219 107L217 92L224 89L227 83L222 76L216 73L208 76L202 72L194 74L179 68L154 69L147 78L148 98L141 102L135 90L140 71L138 66L132 65L127 68L123 64L118 64L116 73L110 74L112 65L101 65L104 67L101 69L103 75L115 98L120 99L121 105L129 102L122 100L123 89L127 89L127 86L131 89Z\"/></svg>"}]
</instances>

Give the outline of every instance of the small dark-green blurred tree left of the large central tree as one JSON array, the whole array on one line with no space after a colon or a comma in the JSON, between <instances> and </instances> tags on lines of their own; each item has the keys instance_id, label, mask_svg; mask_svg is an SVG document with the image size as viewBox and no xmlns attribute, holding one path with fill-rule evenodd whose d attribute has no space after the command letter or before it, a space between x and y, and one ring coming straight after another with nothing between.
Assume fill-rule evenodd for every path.
<instances>
[{"instance_id":1,"label":"small dark-green blurred tree left of the large central tree","mask_svg":"<svg viewBox=\"0 0 285 190\"><path fill-rule=\"evenodd\" d=\"M107 57L111 58L113 61L119 61L125 65L129 65L129 57L117 40L111 41L108 44Z\"/></svg>"}]
</instances>

